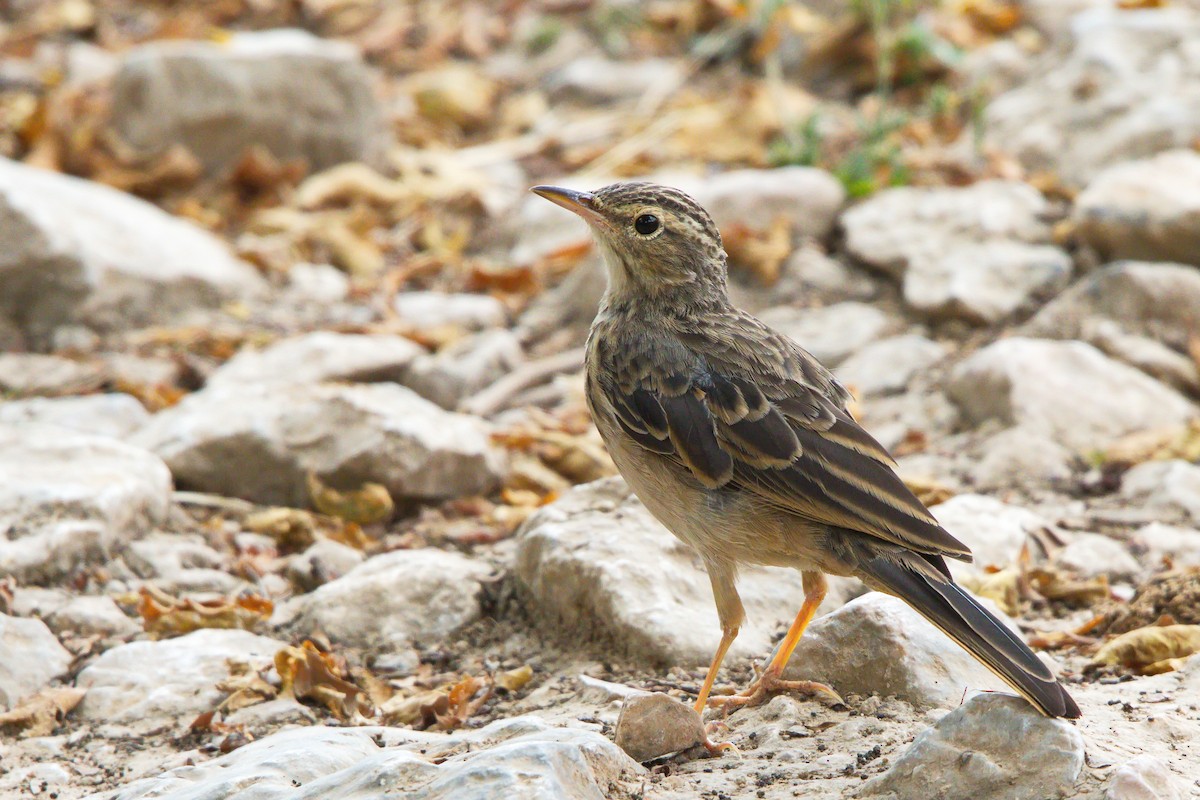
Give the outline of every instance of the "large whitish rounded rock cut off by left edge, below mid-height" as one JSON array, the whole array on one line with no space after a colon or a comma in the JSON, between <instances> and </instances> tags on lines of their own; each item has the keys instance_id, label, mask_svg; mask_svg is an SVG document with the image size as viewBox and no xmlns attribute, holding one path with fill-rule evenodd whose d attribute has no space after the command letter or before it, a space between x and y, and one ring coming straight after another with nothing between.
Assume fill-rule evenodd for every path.
<instances>
[{"instance_id":1,"label":"large whitish rounded rock cut off by left edge, below mid-height","mask_svg":"<svg viewBox=\"0 0 1200 800\"><path fill-rule=\"evenodd\" d=\"M170 473L152 453L42 425L0 425L0 573L61 577L167 518Z\"/></svg>"}]
</instances>

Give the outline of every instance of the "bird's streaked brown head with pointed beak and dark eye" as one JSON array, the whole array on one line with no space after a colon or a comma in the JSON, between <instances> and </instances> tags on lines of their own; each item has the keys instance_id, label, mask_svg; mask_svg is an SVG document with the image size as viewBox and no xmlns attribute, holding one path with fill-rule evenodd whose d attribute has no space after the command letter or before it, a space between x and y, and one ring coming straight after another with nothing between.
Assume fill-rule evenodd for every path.
<instances>
[{"instance_id":1,"label":"bird's streaked brown head with pointed beak and dark eye","mask_svg":"<svg viewBox=\"0 0 1200 800\"><path fill-rule=\"evenodd\" d=\"M725 248L713 218L679 190L612 184L594 192L532 190L592 228L616 295L725 297Z\"/></svg>"}]
</instances>

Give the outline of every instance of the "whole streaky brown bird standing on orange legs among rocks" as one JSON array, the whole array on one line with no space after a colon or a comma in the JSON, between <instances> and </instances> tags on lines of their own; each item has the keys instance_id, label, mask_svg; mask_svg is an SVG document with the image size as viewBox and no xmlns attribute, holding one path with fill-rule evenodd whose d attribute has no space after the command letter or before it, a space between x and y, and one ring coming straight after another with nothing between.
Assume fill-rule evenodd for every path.
<instances>
[{"instance_id":1,"label":"whole streaky brown bird standing on orange legs among rocks","mask_svg":"<svg viewBox=\"0 0 1200 800\"><path fill-rule=\"evenodd\" d=\"M782 678L834 575L908 603L1042 714L1080 716L1050 669L954 582L946 559L971 561L970 548L898 476L848 410L846 387L732 305L720 230L696 200L636 181L532 191L582 217L604 257L584 371L596 428L626 483L695 549L712 583L721 639L697 712L779 691L840 699ZM804 601L751 685L710 698L745 620L737 575L746 564L798 570Z\"/></svg>"}]
</instances>

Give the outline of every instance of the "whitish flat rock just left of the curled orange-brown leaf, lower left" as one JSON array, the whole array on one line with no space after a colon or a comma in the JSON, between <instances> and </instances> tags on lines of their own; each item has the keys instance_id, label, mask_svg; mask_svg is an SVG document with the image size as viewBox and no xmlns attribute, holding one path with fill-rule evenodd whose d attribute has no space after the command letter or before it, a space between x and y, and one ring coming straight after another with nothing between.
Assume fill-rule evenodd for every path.
<instances>
[{"instance_id":1,"label":"whitish flat rock just left of the curled orange-brown leaf, lower left","mask_svg":"<svg viewBox=\"0 0 1200 800\"><path fill-rule=\"evenodd\" d=\"M248 631L202 628L161 642L132 642L106 650L76 679L88 693L76 714L92 722L161 726L164 718L216 708L227 692L228 661L252 669L274 662L286 643Z\"/></svg>"}]
</instances>

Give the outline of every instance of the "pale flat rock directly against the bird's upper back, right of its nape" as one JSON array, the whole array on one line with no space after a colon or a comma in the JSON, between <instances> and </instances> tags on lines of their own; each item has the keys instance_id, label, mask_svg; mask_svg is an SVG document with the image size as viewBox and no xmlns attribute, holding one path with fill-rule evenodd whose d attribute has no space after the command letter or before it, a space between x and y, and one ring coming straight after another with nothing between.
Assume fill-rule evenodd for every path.
<instances>
[{"instance_id":1,"label":"pale flat rock directly against the bird's upper back, right of its nape","mask_svg":"<svg viewBox=\"0 0 1200 800\"><path fill-rule=\"evenodd\" d=\"M764 311L761 318L827 367L841 363L895 325L882 311L863 302L839 302L823 308L780 306Z\"/></svg>"}]
</instances>

